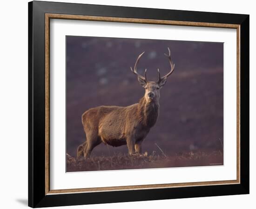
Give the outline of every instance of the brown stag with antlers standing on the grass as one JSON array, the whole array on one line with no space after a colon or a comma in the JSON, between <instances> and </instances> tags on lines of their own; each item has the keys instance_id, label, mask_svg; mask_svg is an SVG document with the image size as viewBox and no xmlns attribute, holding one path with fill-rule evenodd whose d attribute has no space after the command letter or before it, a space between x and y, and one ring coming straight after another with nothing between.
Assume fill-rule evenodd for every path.
<instances>
[{"instance_id":1,"label":"brown stag with antlers standing on the grass","mask_svg":"<svg viewBox=\"0 0 256 209\"><path fill-rule=\"evenodd\" d=\"M144 96L139 103L126 107L98 106L85 111L81 119L86 141L78 146L77 158L88 158L92 150L101 143L114 147L127 145L129 156L141 155L141 144L159 116L160 89L166 84L168 76L174 72L175 67L168 47L168 54L164 55L167 56L171 65L170 71L161 77L157 69L158 80L148 81L147 69L145 69L145 76L137 72L137 65L143 54L144 52L138 56L131 71L145 89Z\"/></svg>"}]
</instances>

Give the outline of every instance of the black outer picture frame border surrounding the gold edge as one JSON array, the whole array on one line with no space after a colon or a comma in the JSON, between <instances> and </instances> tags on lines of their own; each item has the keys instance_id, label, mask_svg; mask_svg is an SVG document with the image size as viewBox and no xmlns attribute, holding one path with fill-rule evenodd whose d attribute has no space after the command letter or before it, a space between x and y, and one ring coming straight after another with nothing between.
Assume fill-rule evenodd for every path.
<instances>
[{"instance_id":1,"label":"black outer picture frame border surrounding the gold edge","mask_svg":"<svg viewBox=\"0 0 256 209\"><path fill-rule=\"evenodd\" d=\"M161 189L46 194L45 14L90 15L240 25L240 183ZM28 206L249 194L249 15L32 1L28 3Z\"/></svg>"}]
</instances>

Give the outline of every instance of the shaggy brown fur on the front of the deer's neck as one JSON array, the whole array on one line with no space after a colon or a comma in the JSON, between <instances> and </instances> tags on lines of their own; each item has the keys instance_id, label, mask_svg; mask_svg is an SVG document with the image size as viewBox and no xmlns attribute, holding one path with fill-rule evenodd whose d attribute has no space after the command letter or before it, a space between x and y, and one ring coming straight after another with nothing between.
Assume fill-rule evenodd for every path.
<instances>
[{"instance_id":1,"label":"shaggy brown fur on the front of the deer's neck","mask_svg":"<svg viewBox=\"0 0 256 209\"><path fill-rule=\"evenodd\" d=\"M147 102L145 97L142 97L138 106L139 120L145 127L151 128L159 115L159 101L152 100Z\"/></svg>"}]
</instances>

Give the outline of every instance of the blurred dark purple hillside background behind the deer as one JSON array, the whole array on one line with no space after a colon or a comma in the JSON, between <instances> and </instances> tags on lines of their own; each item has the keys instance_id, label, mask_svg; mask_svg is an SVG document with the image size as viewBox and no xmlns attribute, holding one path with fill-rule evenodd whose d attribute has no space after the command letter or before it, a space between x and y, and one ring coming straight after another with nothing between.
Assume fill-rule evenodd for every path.
<instances>
[{"instance_id":1,"label":"blurred dark purple hillside background behind the deer","mask_svg":"<svg viewBox=\"0 0 256 209\"><path fill-rule=\"evenodd\" d=\"M167 155L188 151L222 151L223 43L67 36L67 153L76 155L86 137L81 115L100 105L128 106L144 95L130 71L141 52L138 72L147 68L149 80L170 70L171 47L175 71L161 89L160 115L142 143L142 151ZM101 144L92 156L127 153L127 146Z\"/></svg>"}]
</instances>

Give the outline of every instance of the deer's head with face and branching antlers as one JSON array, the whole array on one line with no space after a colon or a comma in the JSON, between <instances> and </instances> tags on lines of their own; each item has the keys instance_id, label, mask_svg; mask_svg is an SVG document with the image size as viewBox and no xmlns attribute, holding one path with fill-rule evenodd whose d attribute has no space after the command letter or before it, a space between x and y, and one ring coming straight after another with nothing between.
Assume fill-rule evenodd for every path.
<instances>
[{"instance_id":1,"label":"deer's head with face and branching antlers","mask_svg":"<svg viewBox=\"0 0 256 209\"><path fill-rule=\"evenodd\" d=\"M144 54L144 52L142 52L138 56L138 58L135 62L135 65L134 65L134 69L132 69L132 67L131 67L131 71L135 75L137 75L140 85L145 89L145 96L144 97L146 98L146 101L148 101L148 102L151 102L153 100L157 100L157 101L159 100L159 98L160 98L160 89L166 84L168 76L171 75L172 72L174 71L174 66L175 65L172 62L171 51L170 51L169 47L168 47L168 52L169 52L168 54L164 54L164 55L167 56L167 58L168 58L168 61L171 65L171 70L165 76L161 77L160 71L159 71L159 69L157 69L158 80L156 82L155 81L148 81L148 79L147 79L147 69L145 69L145 76L142 76L137 72L138 62L141 59L141 56Z\"/></svg>"}]
</instances>

